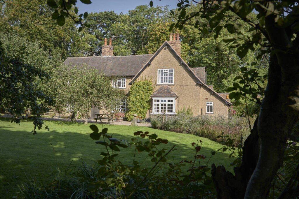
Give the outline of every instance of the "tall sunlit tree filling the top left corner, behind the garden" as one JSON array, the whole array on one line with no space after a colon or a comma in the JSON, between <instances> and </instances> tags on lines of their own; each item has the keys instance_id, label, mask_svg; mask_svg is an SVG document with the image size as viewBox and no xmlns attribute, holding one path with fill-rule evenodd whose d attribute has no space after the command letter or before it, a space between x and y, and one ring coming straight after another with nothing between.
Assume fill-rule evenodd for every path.
<instances>
[{"instance_id":1,"label":"tall sunlit tree filling the top left corner, behind the garden","mask_svg":"<svg viewBox=\"0 0 299 199\"><path fill-rule=\"evenodd\" d=\"M40 47L49 51L50 56L57 53L60 53L63 59L69 56L83 56L90 48L86 44L92 43L90 39L89 43L86 42L90 36L78 33L75 21L70 17L62 17L62 14L66 13L65 10L62 10L62 14L57 14L58 10L53 7L55 6L47 5L46 0L6 0L0 10L0 32L18 33L20 37L32 42L39 40ZM79 18L74 8L68 13ZM56 19L57 16L59 19Z\"/></svg>"}]
</instances>

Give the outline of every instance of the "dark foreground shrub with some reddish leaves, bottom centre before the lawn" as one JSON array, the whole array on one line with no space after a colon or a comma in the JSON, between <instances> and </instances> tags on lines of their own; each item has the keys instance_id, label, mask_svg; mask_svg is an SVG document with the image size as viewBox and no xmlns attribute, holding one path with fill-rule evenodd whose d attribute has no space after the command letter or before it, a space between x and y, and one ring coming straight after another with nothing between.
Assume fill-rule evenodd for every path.
<instances>
[{"instance_id":1,"label":"dark foreground shrub with some reddish leaves, bottom centre before the lawn","mask_svg":"<svg viewBox=\"0 0 299 199\"><path fill-rule=\"evenodd\" d=\"M206 173L210 170L207 166L209 161L205 165L201 165L200 161L197 161L206 158L205 155L198 154L201 149L199 142L201 144L202 141L198 141L197 144L192 143L196 151L194 160L170 163L167 162L167 155L177 149L175 149L175 145L168 150L159 147L160 144L168 144L168 141L158 138L156 134L137 131L134 135L138 138L133 137L129 142L108 135L107 128L102 129L101 132L95 125L90 125L90 128L93 131L90 137L98 140L96 143L105 147L105 152L100 154L103 158L98 161L100 165L98 172L87 185L87 189L93 197L102 197L115 190L115 198L142 198L149 197L149 195L153 198L195 198L198 195L204 197L209 189L213 189L211 187L212 179ZM99 141L100 138L102 138L101 141ZM142 138L147 138L148 141L143 142ZM135 152L136 150L147 152L151 163L142 166L146 159L139 163L135 160L135 155L132 165L124 165L116 160L119 154L114 152L120 151L119 147L132 146L135 146ZM212 152L212 155L215 155L215 152ZM186 164L190 165L187 173L184 172Z\"/></svg>"}]
</instances>

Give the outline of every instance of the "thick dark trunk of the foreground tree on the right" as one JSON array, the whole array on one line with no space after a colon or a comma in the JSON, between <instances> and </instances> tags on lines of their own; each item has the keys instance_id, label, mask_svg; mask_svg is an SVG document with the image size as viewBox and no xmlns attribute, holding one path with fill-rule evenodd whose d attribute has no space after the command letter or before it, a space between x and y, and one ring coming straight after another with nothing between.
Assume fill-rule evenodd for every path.
<instances>
[{"instance_id":1,"label":"thick dark trunk of the foreground tree on the right","mask_svg":"<svg viewBox=\"0 0 299 199\"><path fill-rule=\"evenodd\" d=\"M287 59L296 66L294 57ZM217 198L266 198L283 163L285 143L298 120L298 110L290 105L299 101L293 97L299 93L299 67L283 72L278 63L276 55L270 57L265 98L244 143L242 165L234 168L235 175L223 166L212 165Z\"/></svg>"}]
</instances>

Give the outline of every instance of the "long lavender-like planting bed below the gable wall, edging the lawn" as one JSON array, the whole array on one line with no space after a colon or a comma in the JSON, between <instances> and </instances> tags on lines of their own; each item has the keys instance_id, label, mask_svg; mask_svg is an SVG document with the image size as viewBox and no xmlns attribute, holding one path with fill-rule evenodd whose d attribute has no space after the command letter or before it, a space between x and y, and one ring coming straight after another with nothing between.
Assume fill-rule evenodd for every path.
<instances>
[{"instance_id":1,"label":"long lavender-like planting bed below the gable wall, edging the lawn","mask_svg":"<svg viewBox=\"0 0 299 199\"><path fill-rule=\"evenodd\" d=\"M187 133L209 138L213 141L223 143L223 138L218 138L224 132L224 136L234 139L234 144L243 144L250 133L247 118L245 117L210 117L207 115L193 117L190 107L182 109L176 116L151 116L151 124L155 129Z\"/></svg>"}]
</instances>

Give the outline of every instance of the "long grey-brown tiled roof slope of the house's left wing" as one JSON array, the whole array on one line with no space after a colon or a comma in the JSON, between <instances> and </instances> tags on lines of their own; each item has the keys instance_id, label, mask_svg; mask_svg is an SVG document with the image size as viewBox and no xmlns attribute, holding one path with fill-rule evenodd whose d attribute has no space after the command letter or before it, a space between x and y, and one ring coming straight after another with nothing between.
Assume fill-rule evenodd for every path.
<instances>
[{"instance_id":1,"label":"long grey-brown tiled roof slope of the house's left wing","mask_svg":"<svg viewBox=\"0 0 299 199\"><path fill-rule=\"evenodd\" d=\"M83 66L103 71L108 76L135 76L152 54L129 56L69 57L65 65Z\"/></svg>"}]
</instances>

